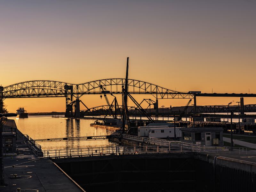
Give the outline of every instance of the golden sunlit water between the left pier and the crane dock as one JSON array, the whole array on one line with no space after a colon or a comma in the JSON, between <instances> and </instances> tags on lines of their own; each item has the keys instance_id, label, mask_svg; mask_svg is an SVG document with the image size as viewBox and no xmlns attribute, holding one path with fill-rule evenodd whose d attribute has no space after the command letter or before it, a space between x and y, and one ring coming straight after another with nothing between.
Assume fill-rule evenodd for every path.
<instances>
[{"instance_id":1,"label":"golden sunlit water between the left pier and the crane dock","mask_svg":"<svg viewBox=\"0 0 256 192\"><path fill-rule=\"evenodd\" d=\"M33 139L83 137L92 135L109 135L114 130L92 127L94 120L52 118L51 116L29 116L28 118L14 119L18 129L23 134L28 134ZM40 142L43 150L64 148L88 148L113 145L108 140L72 140Z\"/></svg>"}]
</instances>

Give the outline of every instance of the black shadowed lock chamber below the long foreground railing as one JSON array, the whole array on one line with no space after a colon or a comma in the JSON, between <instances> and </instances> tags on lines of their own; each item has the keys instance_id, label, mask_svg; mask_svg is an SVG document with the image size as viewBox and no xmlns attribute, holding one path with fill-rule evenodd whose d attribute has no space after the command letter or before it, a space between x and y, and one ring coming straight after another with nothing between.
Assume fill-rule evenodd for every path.
<instances>
[{"instance_id":1,"label":"black shadowed lock chamber below the long foreground railing","mask_svg":"<svg viewBox=\"0 0 256 192\"><path fill-rule=\"evenodd\" d=\"M225 158L205 154L110 155L53 161L87 192L256 189L252 170L255 165L241 166L242 171L240 162L230 163ZM250 187L245 188L245 183Z\"/></svg>"}]
</instances>

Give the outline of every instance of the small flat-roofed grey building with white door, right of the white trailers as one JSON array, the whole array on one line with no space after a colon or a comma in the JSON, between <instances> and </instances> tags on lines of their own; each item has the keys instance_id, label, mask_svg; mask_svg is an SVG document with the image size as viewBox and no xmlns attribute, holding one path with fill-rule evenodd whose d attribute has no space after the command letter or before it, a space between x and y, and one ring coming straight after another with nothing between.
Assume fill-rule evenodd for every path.
<instances>
[{"instance_id":1,"label":"small flat-roofed grey building with white door, right of the white trailers","mask_svg":"<svg viewBox=\"0 0 256 192\"><path fill-rule=\"evenodd\" d=\"M181 128L182 141L205 146L223 146L222 127Z\"/></svg>"}]
</instances>

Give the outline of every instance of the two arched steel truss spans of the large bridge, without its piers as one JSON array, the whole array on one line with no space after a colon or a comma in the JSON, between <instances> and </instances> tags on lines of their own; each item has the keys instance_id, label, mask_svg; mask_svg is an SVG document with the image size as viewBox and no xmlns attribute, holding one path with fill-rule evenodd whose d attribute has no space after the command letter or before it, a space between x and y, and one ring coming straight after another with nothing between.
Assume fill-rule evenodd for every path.
<instances>
[{"instance_id":1,"label":"two arched steel truss spans of the large bridge, without its piers","mask_svg":"<svg viewBox=\"0 0 256 192\"><path fill-rule=\"evenodd\" d=\"M102 94L100 85L106 94L121 94L124 78L108 78L90 81L82 84L70 84L60 81L35 80L25 81L4 87L3 98L26 97L67 97L72 95L77 99L84 94ZM128 79L128 91L131 94L152 94L158 99L189 99L192 94L173 91L145 81Z\"/></svg>"}]
</instances>

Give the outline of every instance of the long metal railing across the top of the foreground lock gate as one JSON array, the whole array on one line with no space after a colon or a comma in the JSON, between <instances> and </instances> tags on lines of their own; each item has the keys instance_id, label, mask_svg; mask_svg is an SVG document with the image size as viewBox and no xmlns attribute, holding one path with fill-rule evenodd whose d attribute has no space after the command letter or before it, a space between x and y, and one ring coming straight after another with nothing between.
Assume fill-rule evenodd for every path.
<instances>
[{"instance_id":1,"label":"long metal railing across the top of the foreground lock gate","mask_svg":"<svg viewBox=\"0 0 256 192\"><path fill-rule=\"evenodd\" d=\"M44 156L48 158L81 157L94 155L115 155L115 154L147 154L147 153L183 153L196 152L196 148L186 148L183 146L109 146L96 148L72 148L43 150Z\"/></svg>"}]
</instances>

